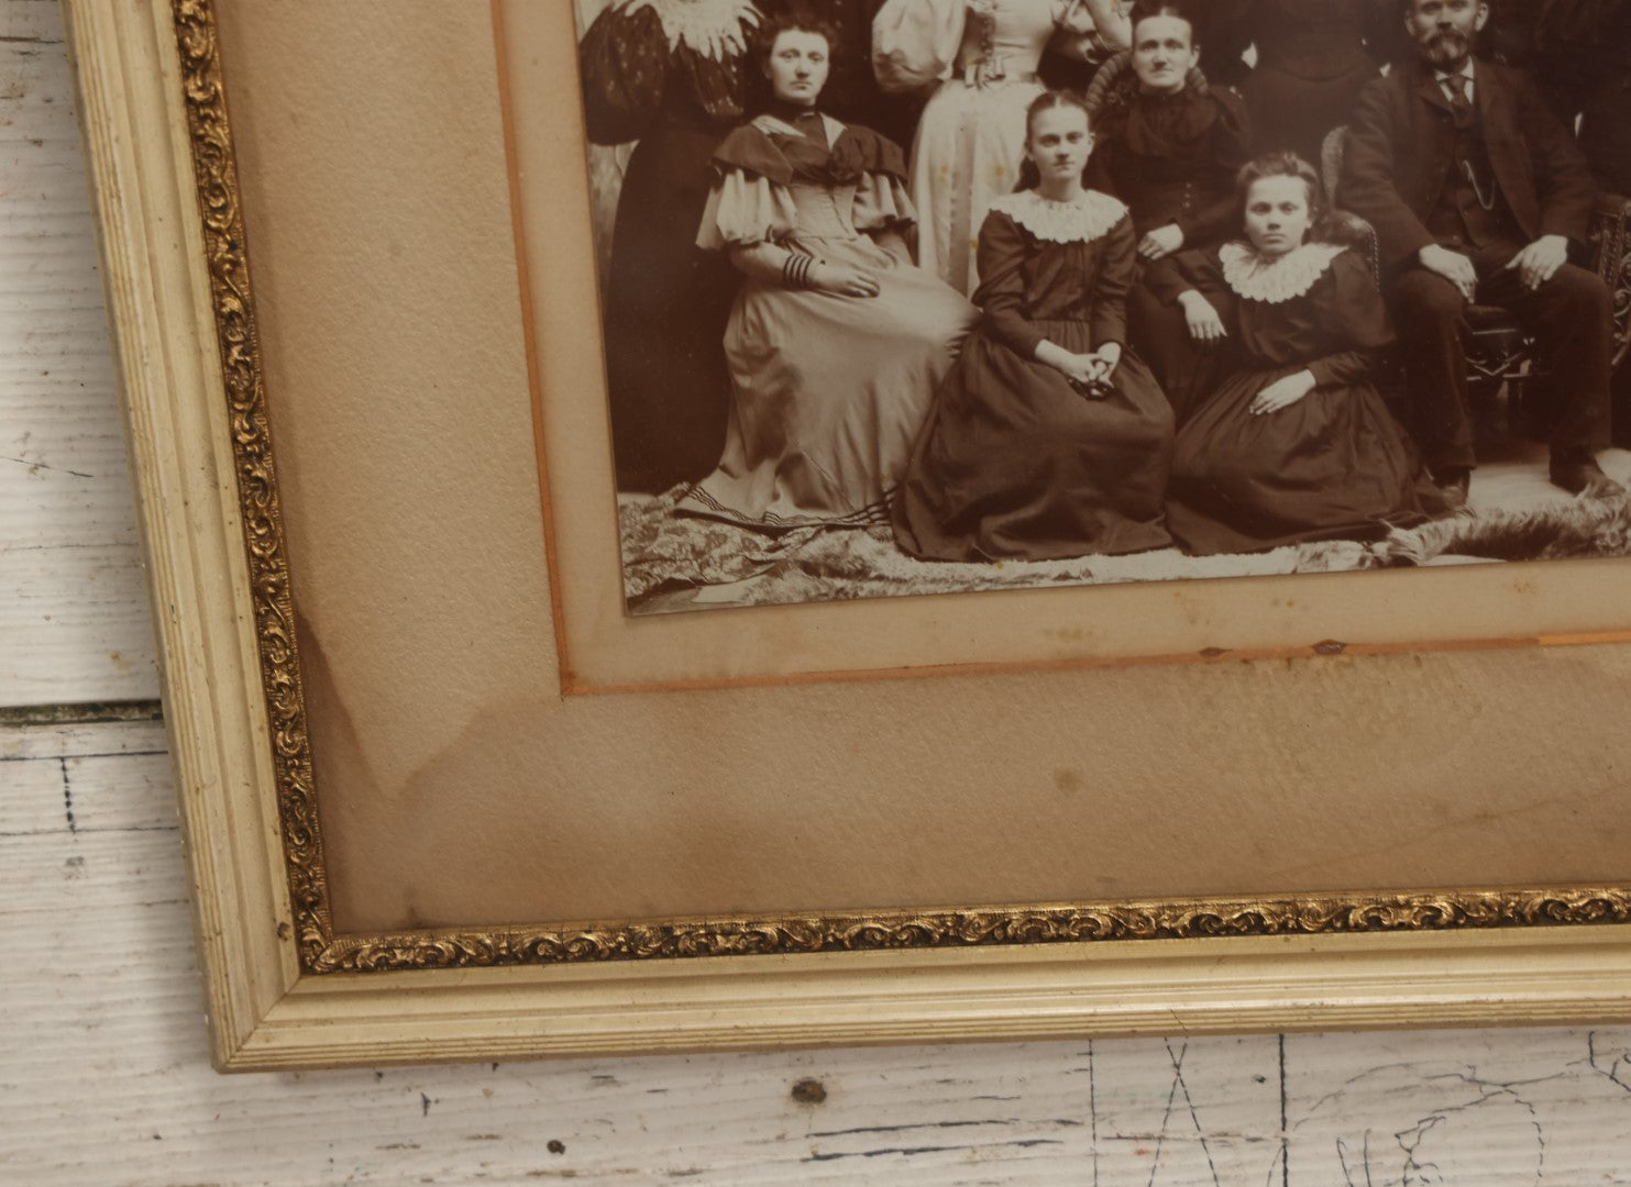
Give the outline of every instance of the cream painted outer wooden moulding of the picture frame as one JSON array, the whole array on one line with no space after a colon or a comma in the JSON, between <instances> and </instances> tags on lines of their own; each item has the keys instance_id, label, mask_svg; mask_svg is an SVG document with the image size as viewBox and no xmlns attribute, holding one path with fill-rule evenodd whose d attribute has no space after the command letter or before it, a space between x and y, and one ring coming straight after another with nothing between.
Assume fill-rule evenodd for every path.
<instances>
[{"instance_id":1,"label":"cream painted outer wooden moulding of the picture frame","mask_svg":"<svg viewBox=\"0 0 1631 1187\"><path fill-rule=\"evenodd\" d=\"M65 13L219 1068L1631 1017L1613 923L303 972L171 5Z\"/></svg>"}]
</instances>

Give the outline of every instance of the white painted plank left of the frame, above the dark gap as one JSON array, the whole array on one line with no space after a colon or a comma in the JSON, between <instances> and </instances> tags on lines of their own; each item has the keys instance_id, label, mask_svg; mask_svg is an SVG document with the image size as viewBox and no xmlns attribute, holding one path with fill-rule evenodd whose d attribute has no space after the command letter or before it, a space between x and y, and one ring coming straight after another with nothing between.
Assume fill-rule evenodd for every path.
<instances>
[{"instance_id":1,"label":"white painted plank left of the frame, above the dark gap","mask_svg":"<svg viewBox=\"0 0 1631 1187\"><path fill-rule=\"evenodd\" d=\"M7 0L0 706L157 695L62 21L51 0Z\"/></svg>"}]
</instances>

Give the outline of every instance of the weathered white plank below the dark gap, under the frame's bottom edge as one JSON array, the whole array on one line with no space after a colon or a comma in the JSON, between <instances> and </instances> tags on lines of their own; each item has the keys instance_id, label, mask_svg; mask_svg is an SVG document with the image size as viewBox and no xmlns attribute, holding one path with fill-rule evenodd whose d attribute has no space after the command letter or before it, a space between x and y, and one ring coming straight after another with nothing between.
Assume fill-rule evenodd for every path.
<instances>
[{"instance_id":1,"label":"weathered white plank below the dark gap, under the frame's bottom edge","mask_svg":"<svg viewBox=\"0 0 1631 1187\"><path fill-rule=\"evenodd\" d=\"M1367 1182L1344 1158L1403 1184L1414 1151L1422 1184L1631 1184L1631 1027L222 1078L160 740L0 727L0 822L44 825L0 828L7 1182L1342 1187ZM10 776L62 766L96 828L67 827L60 774Z\"/></svg>"}]
</instances>

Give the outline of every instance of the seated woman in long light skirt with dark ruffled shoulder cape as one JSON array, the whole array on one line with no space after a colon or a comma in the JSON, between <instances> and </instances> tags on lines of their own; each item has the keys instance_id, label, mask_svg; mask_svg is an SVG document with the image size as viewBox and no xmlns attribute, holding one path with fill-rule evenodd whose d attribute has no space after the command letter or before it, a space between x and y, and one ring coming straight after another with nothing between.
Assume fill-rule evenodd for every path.
<instances>
[{"instance_id":1,"label":"seated woman in long light skirt with dark ruffled shoulder cape","mask_svg":"<svg viewBox=\"0 0 1631 1187\"><path fill-rule=\"evenodd\" d=\"M819 109L830 29L771 18L763 44L775 98L714 152L696 240L745 277L724 457L678 510L760 530L886 523L974 308L910 263L900 148Z\"/></svg>"}]
</instances>

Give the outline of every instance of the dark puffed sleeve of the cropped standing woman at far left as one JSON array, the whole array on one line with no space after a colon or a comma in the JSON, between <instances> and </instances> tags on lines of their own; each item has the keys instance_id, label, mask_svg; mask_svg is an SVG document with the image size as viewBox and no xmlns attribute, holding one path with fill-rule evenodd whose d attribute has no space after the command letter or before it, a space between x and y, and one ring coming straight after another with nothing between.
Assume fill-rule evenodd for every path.
<instances>
[{"instance_id":1,"label":"dark puffed sleeve of the cropped standing woman at far left","mask_svg":"<svg viewBox=\"0 0 1631 1187\"><path fill-rule=\"evenodd\" d=\"M577 44L592 143L625 143L646 134L662 106L669 54L652 8L612 5L594 20Z\"/></svg>"}]
</instances>

